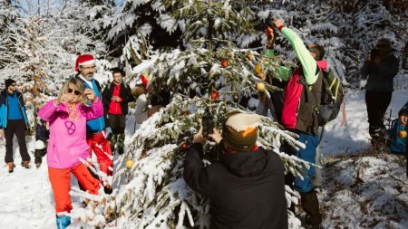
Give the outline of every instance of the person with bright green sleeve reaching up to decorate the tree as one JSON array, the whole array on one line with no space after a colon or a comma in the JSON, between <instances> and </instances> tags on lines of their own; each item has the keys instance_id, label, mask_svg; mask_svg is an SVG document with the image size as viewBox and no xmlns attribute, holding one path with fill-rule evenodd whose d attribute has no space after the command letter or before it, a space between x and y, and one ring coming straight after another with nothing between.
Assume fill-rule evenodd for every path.
<instances>
[{"instance_id":1,"label":"person with bright green sleeve reaching up to decorate the tree","mask_svg":"<svg viewBox=\"0 0 408 229\"><path fill-rule=\"evenodd\" d=\"M275 19L273 24L291 44L300 62L300 66L291 72L285 87L280 123L286 129L298 134L298 140L306 146L306 148L296 150L293 154L316 164L316 151L319 144L317 108L322 97L322 71L327 69L327 62L322 61L325 50L316 43L306 47L302 39L284 25L283 20ZM319 212L319 202L314 185L316 167L305 167L305 170L306 176L295 177L294 185L306 211L306 224L309 224L310 228L317 229L320 228L322 215Z\"/></svg>"}]
</instances>

